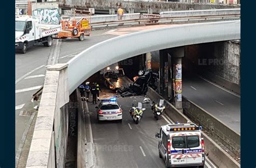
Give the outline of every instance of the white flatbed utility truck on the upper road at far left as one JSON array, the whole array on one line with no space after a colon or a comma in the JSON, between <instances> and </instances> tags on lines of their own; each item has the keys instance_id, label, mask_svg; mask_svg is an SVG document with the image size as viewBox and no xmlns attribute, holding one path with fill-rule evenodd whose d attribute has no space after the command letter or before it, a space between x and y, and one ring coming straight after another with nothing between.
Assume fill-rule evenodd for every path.
<instances>
[{"instance_id":1,"label":"white flatbed utility truck on the upper road at far left","mask_svg":"<svg viewBox=\"0 0 256 168\"><path fill-rule=\"evenodd\" d=\"M15 48L23 54L36 44L52 45L52 35L61 31L61 25L41 24L39 16L15 16Z\"/></svg>"}]
</instances>

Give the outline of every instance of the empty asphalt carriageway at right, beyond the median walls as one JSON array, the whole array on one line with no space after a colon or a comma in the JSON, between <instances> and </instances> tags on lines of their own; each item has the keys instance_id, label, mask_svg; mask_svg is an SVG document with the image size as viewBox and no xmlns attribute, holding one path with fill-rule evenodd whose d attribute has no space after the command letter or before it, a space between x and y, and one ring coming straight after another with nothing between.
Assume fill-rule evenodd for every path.
<instances>
[{"instance_id":1,"label":"empty asphalt carriageway at right, beyond the median walls","mask_svg":"<svg viewBox=\"0 0 256 168\"><path fill-rule=\"evenodd\" d=\"M227 92L186 69L182 78L182 92L187 99L240 133L240 96Z\"/></svg>"}]
</instances>

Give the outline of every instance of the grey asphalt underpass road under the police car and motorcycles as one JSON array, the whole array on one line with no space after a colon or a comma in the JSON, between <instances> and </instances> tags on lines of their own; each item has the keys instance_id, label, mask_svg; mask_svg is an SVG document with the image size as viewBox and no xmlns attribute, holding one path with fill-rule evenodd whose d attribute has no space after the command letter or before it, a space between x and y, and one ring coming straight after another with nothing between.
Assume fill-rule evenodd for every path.
<instances>
[{"instance_id":1,"label":"grey asphalt underpass road under the police car and motorcycles","mask_svg":"<svg viewBox=\"0 0 256 168\"><path fill-rule=\"evenodd\" d=\"M118 103L123 109L122 123L116 121L98 123L96 105L88 102L96 167L165 167L164 160L158 156L158 139L155 138L155 134L159 132L161 125L167 124L167 121L163 117L156 121L150 104L143 104L146 110L138 125L133 122L129 113L132 103L142 102L144 98L144 96L118 98Z\"/></svg>"}]
</instances>

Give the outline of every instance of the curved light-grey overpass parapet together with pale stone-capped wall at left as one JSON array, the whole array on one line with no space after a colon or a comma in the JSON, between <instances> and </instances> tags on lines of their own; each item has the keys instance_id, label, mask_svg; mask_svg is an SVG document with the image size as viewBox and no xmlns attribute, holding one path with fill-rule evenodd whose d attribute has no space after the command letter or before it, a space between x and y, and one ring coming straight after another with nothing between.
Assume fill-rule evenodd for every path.
<instances>
[{"instance_id":1,"label":"curved light-grey overpass parapet together with pale stone-capped wall at left","mask_svg":"<svg viewBox=\"0 0 256 168\"><path fill-rule=\"evenodd\" d=\"M163 51L161 57L170 53L180 62L185 45L234 39L240 39L240 20L173 25L103 41L79 53L68 64L49 67L26 167L63 167L69 95L103 67L157 50Z\"/></svg>"}]
</instances>

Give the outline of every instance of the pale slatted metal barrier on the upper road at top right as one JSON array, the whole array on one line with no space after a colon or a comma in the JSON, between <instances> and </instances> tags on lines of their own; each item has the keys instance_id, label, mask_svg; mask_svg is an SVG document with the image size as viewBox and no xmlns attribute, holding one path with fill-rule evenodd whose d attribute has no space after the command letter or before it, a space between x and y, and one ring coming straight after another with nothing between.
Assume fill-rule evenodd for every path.
<instances>
[{"instance_id":1,"label":"pale slatted metal barrier on the upper road at top right","mask_svg":"<svg viewBox=\"0 0 256 168\"><path fill-rule=\"evenodd\" d=\"M240 9L210 9L210 10L188 10L188 11L166 11L160 12L161 17L186 17L186 16L208 16L208 15L239 15Z\"/></svg>"}]
</instances>

